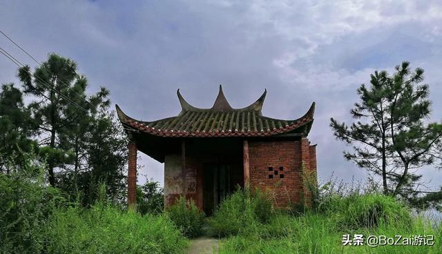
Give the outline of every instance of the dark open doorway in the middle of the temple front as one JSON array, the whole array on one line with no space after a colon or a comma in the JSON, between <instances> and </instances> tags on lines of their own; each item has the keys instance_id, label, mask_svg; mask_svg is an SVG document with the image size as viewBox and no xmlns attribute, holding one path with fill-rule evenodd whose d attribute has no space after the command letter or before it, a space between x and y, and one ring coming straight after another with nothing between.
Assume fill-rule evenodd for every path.
<instances>
[{"instance_id":1,"label":"dark open doorway in the middle of the temple front","mask_svg":"<svg viewBox=\"0 0 442 254\"><path fill-rule=\"evenodd\" d=\"M242 165L204 164L203 210L212 215L222 199L243 185Z\"/></svg>"}]
</instances>

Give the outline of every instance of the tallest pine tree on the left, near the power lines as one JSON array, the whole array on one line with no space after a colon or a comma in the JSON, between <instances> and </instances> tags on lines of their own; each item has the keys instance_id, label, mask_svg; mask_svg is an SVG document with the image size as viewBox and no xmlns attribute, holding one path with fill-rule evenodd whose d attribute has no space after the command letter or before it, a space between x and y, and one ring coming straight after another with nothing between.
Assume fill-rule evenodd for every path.
<instances>
[{"instance_id":1,"label":"tallest pine tree on the left, near the power lines","mask_svg":"<svg viewBox=\"0 0 442 254\"><path fill-rule=\"evenodd\" d=\"M26 95L33 95L29 108L35 119L39 120L41 153L47 157L49 182L55 186L54 169L67 162L66 150L59 147L59 133L66 125L77 121L81 115L70 111L71 101L85 99L86 82L77 75L75 61L50 54L48 60L37 66L35 72L30 66L19 68L20 81ZM75 93L73 91L82 91Z\"/></svg>"}]
</instances>

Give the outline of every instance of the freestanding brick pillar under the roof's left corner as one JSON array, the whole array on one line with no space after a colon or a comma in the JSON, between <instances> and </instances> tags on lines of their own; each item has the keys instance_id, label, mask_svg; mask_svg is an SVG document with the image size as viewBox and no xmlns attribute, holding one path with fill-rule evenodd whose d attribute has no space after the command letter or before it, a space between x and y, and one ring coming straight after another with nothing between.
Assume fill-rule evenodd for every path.
<instances>
[{"instance_id":1,"label":"freestanding brick pillar under the roof's left corner","mask_svg":"<svg viewBox=\"0 0 442 254\"><path fill-rule=\"evenodd\" d=\"M128 144L127 200L129 208L137 204L137 144L130 140Z\"/></svg>"}]
</instances>

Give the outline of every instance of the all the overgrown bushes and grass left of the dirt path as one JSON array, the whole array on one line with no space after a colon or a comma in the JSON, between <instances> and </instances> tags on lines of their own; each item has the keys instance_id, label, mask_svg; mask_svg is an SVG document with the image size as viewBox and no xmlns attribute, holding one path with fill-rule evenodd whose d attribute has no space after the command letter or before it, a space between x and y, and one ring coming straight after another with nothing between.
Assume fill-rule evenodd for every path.
<instances>
[{"instance_id":1,"label":"all the overgrown bushes and grass left of the dirt path","mask_svg":"<svg viewBox=\"0 0 442 254\"><path fill-rule=\"evenodd\" d=\"M183 253L187 240L167 215L124 211L99 188L83 207L46 184L44 164L24 155L0 174L0 253Z\"/></svg>"}]
</instances>

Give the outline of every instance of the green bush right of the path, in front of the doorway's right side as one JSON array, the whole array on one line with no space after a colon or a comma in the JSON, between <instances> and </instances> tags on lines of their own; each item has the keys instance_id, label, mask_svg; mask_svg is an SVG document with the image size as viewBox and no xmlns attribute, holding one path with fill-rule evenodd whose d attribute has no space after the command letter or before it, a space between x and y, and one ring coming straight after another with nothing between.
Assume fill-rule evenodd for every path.
<instances>
[{"instance_id":1,"label":"green bush right of the path, in front of the doorway's right side","mask_svg":"<svg viewBox=\"0 0 442 254\"><path fill-rule=\"evenodd\" d=\"M272 215L269 193L240 189L221 202L210 224L219 236L236 235L259 230L262 224L270 222Z\"/></svg>"}]
</instances>

